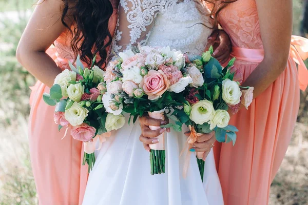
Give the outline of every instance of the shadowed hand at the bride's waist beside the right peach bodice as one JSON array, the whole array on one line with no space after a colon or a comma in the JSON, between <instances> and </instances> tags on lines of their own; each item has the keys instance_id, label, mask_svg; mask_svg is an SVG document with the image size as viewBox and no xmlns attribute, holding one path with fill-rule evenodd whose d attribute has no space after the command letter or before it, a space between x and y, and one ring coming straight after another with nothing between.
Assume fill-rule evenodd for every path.
<instances>
[{"instance_id":1,"label":"shadowed hand at the bride's waist beside the right peach bodice","mask_svg":"<svg viewBox=\"0 0 308 205\"><path fill-rule=\"evenodd\" d=\"M214 30L207 38L207 45L205 50L210 46L214 47L213 57L215 57L221 64L226 63L231 53L231 40L224 30Z\"/></svg>"}]
</instances>

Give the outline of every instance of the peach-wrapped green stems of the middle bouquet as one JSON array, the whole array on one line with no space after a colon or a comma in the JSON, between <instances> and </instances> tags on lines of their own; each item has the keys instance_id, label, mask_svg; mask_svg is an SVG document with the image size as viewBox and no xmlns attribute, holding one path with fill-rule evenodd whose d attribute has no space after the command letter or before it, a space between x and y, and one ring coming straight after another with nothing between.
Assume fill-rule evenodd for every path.
<instances>
[{"instance_id":1,"label":"peach-wrapped green stems of the middle bouquet","mask_svg":"<svg viewBox=\"0 0 308 205\"><path fill-rule=\"evenodd\" d=\"M165 119L165 110L148 112L149 116L154 119ZM151 130L161 129L159 126L149 126ZM151 164L151 174L161 174L165 173L165 134L156 137L159 142L157 144L150 145L150 164Z\"/></svg>"}]
</instances>

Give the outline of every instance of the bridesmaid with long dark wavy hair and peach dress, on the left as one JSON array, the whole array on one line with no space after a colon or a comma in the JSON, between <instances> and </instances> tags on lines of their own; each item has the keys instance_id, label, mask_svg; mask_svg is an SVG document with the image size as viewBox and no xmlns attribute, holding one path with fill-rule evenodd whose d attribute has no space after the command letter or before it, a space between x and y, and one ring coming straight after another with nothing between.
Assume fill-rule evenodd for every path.
<instances>
[{"instance_id":1,"label":"bridesmaid with long dark wavy hair and peach dress, on the left","mask_svg":"<svg viewBox=\"0 0 308 205\"><path fill-rule=\"evenodd\" d=\"M105 67L117 4L40 0L18 45L18 61L39 80L30 97L29 147L40 204L81 204L87 181L87 168L81 165L82 143L70 136L61 140L64 131L58 132L54 124L54 107L47 106L42 95L77 53L85 65L93 53L99 53L97 63ZM49 48L51 44L55 47Z\"/></svg>"}]
</instances>

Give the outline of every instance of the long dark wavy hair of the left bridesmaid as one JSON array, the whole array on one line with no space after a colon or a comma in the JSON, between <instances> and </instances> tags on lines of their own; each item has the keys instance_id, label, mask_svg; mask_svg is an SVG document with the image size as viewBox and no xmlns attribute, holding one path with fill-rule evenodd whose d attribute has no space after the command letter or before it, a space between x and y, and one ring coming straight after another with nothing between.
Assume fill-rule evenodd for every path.
<instances>
[{"instance_id":1,"label":"long dark wavy hair of the left bridesmaid","mask_svg":"<svg viewBox=\"0 0 308 205\"><path fill-rule=\"evenodd\" d=\"M112 36L108 28L113 6L109 0L62 0L61 22L72 34L71 48L88 66L98 54L97 65L106 67L107 47ZM116 6L116 5L115 5ZM72 25L72 26L69 26Z\"/></svg>"}]
</instances>

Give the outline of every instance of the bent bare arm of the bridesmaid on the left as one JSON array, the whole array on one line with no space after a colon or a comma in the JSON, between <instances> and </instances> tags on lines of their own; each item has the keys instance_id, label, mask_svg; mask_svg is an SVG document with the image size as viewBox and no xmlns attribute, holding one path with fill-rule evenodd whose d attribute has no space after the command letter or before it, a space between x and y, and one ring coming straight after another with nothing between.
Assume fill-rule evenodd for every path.
<instances>
[{"instance_id":1,"label":"bent bare arm of the bridesmaid on the left","mask_svg":"<svg viewBox=\"0 0 308 205\"><path fill-rule=\"evenodd\" d=\"M66 29L61 22L62 6L60 0L38 1L16 51L17 60L49 87L61 69L45 51Z\"/></svg>"}]
</instances>

